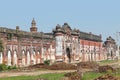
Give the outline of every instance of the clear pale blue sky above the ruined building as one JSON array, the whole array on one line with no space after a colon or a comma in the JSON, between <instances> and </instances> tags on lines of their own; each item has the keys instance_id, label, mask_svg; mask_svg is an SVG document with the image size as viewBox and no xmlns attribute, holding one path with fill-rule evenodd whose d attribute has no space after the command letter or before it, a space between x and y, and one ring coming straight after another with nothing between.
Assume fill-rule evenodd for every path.
<instances>
[{"instance_id":1,"label":"clear pale blue sky above the ruined building","mask_svg":"<svg viewBox=\"0 0 120 80\"><path fill-rule=\"evenodd\" d=\"M0 0L0 27L51 32L67 22L72 29L116 38L120 31L120 0Z\"/></svg>"}]
</instances>

